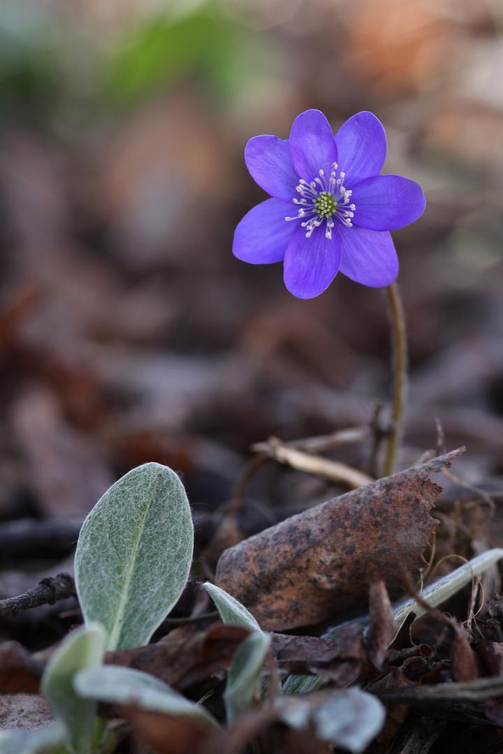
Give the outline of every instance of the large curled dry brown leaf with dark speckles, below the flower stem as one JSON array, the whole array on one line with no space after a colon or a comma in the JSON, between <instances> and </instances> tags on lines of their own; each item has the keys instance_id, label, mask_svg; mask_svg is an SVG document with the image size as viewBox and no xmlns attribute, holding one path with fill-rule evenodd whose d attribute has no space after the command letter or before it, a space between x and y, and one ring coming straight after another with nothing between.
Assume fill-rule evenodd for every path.
<instances>
[{"instance_id":1,"label":"large curled dry brown leaf with dark speckles, below the flower stem","mask_svg":"<svg viewBox=\"0 0 503 754\"><path fill-rule=\"evenodd\" d=\"M391 596L401 575L425 566L437 520L429 511L442 488L429 474L462 449L386 477L299 513L222 554L216 584L265 630L327 620L367 602L368 584L385 579Z\"/></svg>"}]
</instances>

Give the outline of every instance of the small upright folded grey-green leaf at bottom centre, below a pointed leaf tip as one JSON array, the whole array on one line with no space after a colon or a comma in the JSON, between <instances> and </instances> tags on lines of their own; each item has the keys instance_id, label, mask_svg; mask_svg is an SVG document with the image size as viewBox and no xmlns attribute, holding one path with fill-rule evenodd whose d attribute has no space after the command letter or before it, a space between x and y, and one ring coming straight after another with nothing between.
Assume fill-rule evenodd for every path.
<instances>
[{"instance_id":1,"label":"small upright folded grey-green leaf at bottom centre, below a pointed leaf tip","mask_svg":"<svg viewBox=\"0 0 503 754\"><path fill-rule=\"evenodd\" d=\"M228 722L253 703L260 679L260 670L267 654L271 636L254 631L238 646L228 669L227 685L223 694Z\"/></svg>"}]
</instances>

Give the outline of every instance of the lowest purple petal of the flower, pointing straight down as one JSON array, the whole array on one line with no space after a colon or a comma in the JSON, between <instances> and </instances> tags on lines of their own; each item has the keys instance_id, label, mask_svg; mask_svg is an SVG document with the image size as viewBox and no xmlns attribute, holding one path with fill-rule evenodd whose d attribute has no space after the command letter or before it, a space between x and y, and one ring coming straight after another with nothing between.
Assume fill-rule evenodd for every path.
<instances>
[{"instance_id":1,"label":"lowest purple petal of the flower, pointing straight down","mask_svg":"<svg viewBox=\"0 0 503 754\"><path fill-rule=\"evenodd\" d=\"M314 228L311 238L305 238L305 228L299 228L290 242L284 261L284 282L298 299L313 299L330 286L341 261L339 236L325 237L324 225Z\"/></svg>"}]
</instances>

